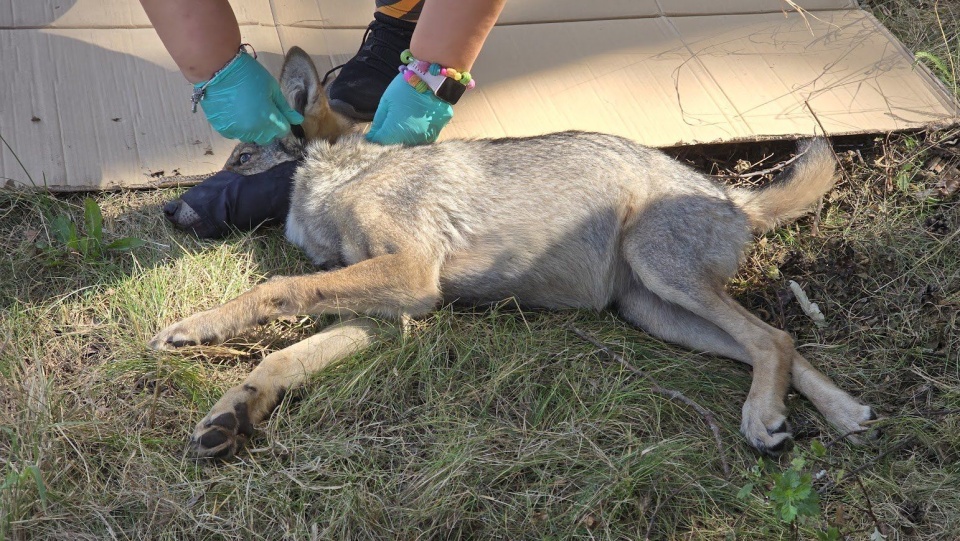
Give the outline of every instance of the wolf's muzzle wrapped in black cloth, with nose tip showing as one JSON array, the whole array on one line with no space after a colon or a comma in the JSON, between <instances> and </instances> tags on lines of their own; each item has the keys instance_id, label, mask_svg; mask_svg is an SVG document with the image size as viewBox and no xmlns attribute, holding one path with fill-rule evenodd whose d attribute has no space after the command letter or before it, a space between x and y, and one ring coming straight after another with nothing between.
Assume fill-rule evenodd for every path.
<instances>
[{"instance_id":1,"label":"wolf's muzzle wrapped in black cloth, with nose tip showing","mask_svg":"<svg viewBox=\"0 0 960 541\"><path fill-rule=\"evenodd\" d=\"M164 205L163 213L175 226L205 239L283 223L301 162L284 162L255 175L220 171Z\"/></svg>"}]
</instances>

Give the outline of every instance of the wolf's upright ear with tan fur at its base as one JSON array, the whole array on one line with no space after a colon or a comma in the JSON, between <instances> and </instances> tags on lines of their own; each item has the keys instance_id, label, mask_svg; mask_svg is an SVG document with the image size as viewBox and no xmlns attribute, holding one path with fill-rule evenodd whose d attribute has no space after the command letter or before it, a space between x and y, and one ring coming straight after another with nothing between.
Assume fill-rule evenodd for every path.
<instances>
[{"instance_id":1,"label":"wolf's upright ear with tan fur at its base","mask_svg":"<svg viewBox=\"0 0 960 541\"><path fill-rule=\"evenodd\" d=\"M327 106L327 97L317 67L300 47L291 47L280 70L280 89L290 106L303 115L303 131L308 140L335 141L350 127L350 122Z\"/></svg>"}]
</instances>

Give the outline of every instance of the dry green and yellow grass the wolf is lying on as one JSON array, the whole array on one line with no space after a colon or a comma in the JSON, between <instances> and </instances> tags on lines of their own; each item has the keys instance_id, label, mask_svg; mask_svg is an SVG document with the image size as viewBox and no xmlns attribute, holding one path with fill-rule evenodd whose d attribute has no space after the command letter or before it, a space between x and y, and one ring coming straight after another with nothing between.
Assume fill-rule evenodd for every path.
<instances>
[{"instance_id":1,"label":"dry green and yellow grass the wolf is lying on","mask_svg":"<svg viewBox=\"0 0 960 541\"><path fill-rule=\"evenodd\" d=\"M938 4L937 23L933 4L916 5L870 7L908 46L955 63L956 8ZM930 32L938 24L948 39ZM220 393L324 322L273 324L232 341L239 355L155 353L146 341L309 264L278 230L218 242L173 231L159 207L178 192L165 190L97 196L104 242L143 247L50 266L36 245L56 216L82 223L82 198L0 192L0 538L813 539L831 525L849 539L960 538L960 206L940 186L949 168L925 173L936 156L956 164L957 135L837 141L844 180L818 217L759 239L731 284L886 416L883 438L855 447L791 395L797 452L762 468L738 433L743 367L610 314L509 305L439 310L288 395L237 459L195 463L185 440ZM682 157L724 171L768 155L785 148ZM570 325L711 409L731 475L696 412ZM822 457L809 453L815 440ZM794 527L757 472L800 453L823 511Z\"/></svg>"}]
</instances>

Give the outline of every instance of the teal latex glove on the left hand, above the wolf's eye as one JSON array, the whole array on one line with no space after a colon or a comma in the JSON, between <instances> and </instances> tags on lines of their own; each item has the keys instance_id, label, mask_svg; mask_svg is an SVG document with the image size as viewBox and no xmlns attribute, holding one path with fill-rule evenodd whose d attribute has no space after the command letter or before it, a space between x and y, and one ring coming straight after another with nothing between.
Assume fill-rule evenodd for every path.
<instances>
[{"instance_id":1,"label":"teal latex glove on the left hand, above the wolf's eye","mask_svg":"<svg viewBox=\"0 0 960 541\"><path fill-rule=\"evenodd\" d=\"M280 85L246 52L206 84L200 106L213 129L228 139L265 145L290 131L290 124L303 124L303 115L293 110L280 92Z\"/></svg>"}]
</instances>

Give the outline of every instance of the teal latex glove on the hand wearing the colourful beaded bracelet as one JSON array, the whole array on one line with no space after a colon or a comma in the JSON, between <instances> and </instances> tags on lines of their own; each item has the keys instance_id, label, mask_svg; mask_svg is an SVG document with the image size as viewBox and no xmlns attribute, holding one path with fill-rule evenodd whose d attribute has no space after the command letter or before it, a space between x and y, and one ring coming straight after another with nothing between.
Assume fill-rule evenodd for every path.
<instances>
[{"instance_id":1,"label":"teal latex glove on the hand wearing the colourful beaded bracelet","mask_svg":"<svg viewBox=\"0 0 960 541\"><path fill-rule=\"evenodd\" d=\"M437 140L453 107L429 90L417 92L398 74L377 106L367 140L381 145L422 145Z\"/></svg>"}]
</instances>

